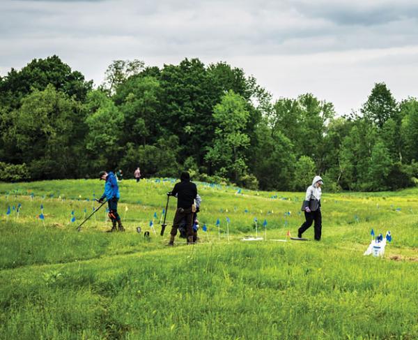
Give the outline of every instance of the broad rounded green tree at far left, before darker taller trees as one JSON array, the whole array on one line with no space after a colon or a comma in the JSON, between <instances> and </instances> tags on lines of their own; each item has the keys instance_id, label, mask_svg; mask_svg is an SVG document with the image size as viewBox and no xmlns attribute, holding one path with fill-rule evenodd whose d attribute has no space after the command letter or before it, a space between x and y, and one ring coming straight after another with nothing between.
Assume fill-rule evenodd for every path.
<instances>
[{"instance_id":1,"label":"broad rounded green tree at far left, before darker taller trees","mask_svg":"<svg viewBox=\"0 0 418 340\"><path fill-rule=\"evenodd\" d=\"M10 114L10 128L3 137L15 144L20 163L29 166L33 179L75 176L75 122L81 105L50 84L22 99L22 107Z\"/></svg>"}]
</instances>

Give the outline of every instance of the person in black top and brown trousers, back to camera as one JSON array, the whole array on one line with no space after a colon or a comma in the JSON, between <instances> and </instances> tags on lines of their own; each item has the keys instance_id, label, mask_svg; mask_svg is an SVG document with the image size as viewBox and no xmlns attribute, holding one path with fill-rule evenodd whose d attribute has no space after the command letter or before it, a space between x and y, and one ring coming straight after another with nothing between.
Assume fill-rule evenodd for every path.
<instances>
[{"instance_id":1,"label":"person in black top and brown trousers, back to camera","mask_svg":"<svg viewBox=\"0 0 418 340\"><path fill-rule=\"evenodd\" d=\"M193 244L193 214L196 212L194 200L196 199L197 188L196 184L190 182L189 172L183 172L181 174L180 182L167 195L177 196L177 210L174 216L173 226L171 227L168 245L174 245L178 227L183 219L186 220L187 244Z\"/></svg>"}]
</instances>

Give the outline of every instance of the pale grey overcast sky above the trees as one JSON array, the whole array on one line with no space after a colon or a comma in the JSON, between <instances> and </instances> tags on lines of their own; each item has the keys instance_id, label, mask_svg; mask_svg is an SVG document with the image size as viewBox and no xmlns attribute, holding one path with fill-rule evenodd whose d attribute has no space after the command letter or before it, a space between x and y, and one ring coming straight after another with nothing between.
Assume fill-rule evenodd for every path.
<instances>
[{"instance_id":1,"label":"pale grey overcast sky above the trees","mask_svg":"<svg viewBox=\"0 0 418 340\"><path fill-rule=\"evenodd\" d=\"M0 0L0 75L52 54L95 84L115 59L226 61L344 114L375 82L418 96L418 1Z\"/></svg>"}]
</instances>

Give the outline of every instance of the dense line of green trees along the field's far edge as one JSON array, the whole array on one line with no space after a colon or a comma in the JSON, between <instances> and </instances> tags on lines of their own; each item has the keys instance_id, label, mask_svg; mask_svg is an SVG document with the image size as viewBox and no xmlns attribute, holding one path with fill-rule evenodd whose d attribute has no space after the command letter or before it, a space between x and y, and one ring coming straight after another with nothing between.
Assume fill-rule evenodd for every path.
<instances>
[{"instance_id":1,"label":"dense line of green trees along the field's far edge","mask_svg":"<svg viewBox=\"0 0 418 340\"><path fill-rule=\"evenodd\" d=\"M415 185L418 101L377 83L358 111L312 94L272 100L229 64L184 59L162 68L114 61L93 87L57 56L0 77L0 180L97 177L137 166L146 177L304 190ZM127 176L128 175L128 176Z\"/></svg>"}]
</instances>

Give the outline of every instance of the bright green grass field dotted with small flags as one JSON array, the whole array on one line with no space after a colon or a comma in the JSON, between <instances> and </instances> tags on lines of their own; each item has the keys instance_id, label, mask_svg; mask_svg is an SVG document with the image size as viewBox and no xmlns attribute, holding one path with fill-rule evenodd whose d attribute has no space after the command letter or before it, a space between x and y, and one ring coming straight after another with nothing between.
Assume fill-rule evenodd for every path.
<instances>
[{"instance_id":1,"label":"bright green grass field dotted with small flags","mask_svg":"<svg viewBox=\"0 0 418 340\"><path fill-rule=\"evenodd\" d=\"M314 242L310 228L309 242L275 242L297 235L304 193L198 183L208 232L199 230L195 246L166 247L176 199L164 237L160 219L172 187L121 182L126 232L107 233L104 209L77 232L103 182L0 184L0 338L418 338L418 189L329 194L325 186L323 239ZM256 236L254 218L267 240L241 242ZM385 258L362 255L371 228L392 232Z\"/></svg>"}]
</instances>

